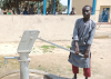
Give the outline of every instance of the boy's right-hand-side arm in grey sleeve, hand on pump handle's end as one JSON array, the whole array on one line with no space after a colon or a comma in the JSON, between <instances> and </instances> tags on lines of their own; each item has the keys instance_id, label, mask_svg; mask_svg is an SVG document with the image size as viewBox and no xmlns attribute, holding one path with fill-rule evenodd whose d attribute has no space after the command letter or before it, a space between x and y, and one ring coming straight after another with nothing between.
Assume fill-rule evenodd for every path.
<instances>
[{"instance_id":1,"label":"boy's right-hand-side arm in grey sleeve, hand on pump handle's end","mask_svg":"<svg viewBox=\"0 0 111 79\"><path fill-rule=\"evenodd\" d=\"M93 23L93 28L90 32L90 38L88 39L88 42L87 42L88 43L88 49L85 50L84 58L89 58L89 51L90 51L92 40L93 40L94 33L95 33L95 26L97 26L97 23Z\"/></svg>"}]
</instances>

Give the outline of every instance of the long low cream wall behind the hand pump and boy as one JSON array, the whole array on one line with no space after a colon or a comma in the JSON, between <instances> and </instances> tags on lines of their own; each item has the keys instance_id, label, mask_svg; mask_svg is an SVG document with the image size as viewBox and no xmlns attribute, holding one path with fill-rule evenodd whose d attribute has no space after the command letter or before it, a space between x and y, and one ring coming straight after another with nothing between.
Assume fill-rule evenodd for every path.
<instances>
[{"instance_id":1,"label":"long low cream wall behind the hand pump and boy","mask_svg":"<svg viewBox=\"0 0 111 79\"><path fill-rule=\"evenodd\" d=\"M20 41L24 30L39 30L46 40L72 40L78 18L82 16L0 16L0 42Z\"/></svg>"}]
</instances>

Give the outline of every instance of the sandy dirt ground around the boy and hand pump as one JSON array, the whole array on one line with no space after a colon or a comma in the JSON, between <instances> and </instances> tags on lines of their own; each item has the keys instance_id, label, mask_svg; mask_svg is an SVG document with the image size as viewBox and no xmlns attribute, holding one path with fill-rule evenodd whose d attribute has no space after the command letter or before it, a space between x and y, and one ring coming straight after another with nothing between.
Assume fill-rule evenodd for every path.
<instances>
[{"instance_id":1,"label":"sandy dirt ground around the boy and hand pump","mask_svg":"<svg viewBox=\"0 0 111 79\"><path fill-rule=\"evenodd\" d=\"M101 30L104 30L101 28ZM110 29L111 30L111 29ZM107 29L105 31L110 31ZM70 48L71 41L52 41L65 48ZM3 57L18 57L17 48L19 42L0 43L0 73L19 69L18 60L8 60L7 67L3 65ZM36 42L30 53L30 69L42 70L59 77L72 78L71 63L68 62L69 51L51 47L39 41ZM79 79L83 78L83 69L80 68ZM94 39L91 47L91 78L90 79L111 79L111 39Z\"/></svg>"}]
</instances>

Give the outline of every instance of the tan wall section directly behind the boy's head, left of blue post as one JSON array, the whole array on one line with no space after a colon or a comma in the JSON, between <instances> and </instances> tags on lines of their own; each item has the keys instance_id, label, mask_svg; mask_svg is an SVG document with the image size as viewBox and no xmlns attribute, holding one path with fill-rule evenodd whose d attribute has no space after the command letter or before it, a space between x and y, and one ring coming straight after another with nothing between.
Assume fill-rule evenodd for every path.
<instances>
[{"instance_id":1,"label":"tan wall section directly behind the boy's head, left of blue post","mask_svg":"<svg viewBox=\"0 0 111 79\"><path fill-rule=\"evenodd\" d=\"M89 4L92 7L93 0L72 0L72 7L75 8L77 14L82 14L82 8L85 4Z\"/></svg>"}]
</instances>

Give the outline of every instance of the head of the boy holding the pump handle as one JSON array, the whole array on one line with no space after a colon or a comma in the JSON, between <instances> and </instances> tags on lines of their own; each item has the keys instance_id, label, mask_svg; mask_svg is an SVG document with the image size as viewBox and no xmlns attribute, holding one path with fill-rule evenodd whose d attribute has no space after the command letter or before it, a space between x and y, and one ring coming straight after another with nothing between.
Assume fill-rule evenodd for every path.
<instances>
[{"instance_id":1,"label":"head of the boy holding the pump handle","mask_svg":"<svg viewBox=\"0 0 111 79\"><path fill-rule=\"evenodd\" d=\"M83 18L90 18L91 13L92 13L92 7L91 6L84 6L82 8Z\"/></svg>"}]
</instances>

